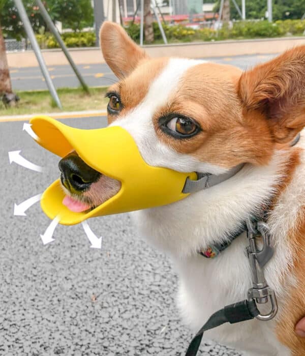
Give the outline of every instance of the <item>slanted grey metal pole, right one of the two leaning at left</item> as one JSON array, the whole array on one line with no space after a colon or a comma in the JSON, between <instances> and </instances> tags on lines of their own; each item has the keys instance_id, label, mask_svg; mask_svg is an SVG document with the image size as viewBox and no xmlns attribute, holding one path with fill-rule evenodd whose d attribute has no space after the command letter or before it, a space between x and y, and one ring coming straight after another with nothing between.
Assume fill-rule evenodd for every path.
<instances>
[{"instance_id":1,"label":"slanted grey metal pole, right one of the two leaning at left","mask_svg":"<svg viewBox=\"0 0 305 356\"><path fill-rule=\"evenodd\" d=\"M42 2L40 0L36 0L36 4L39 7L41 16L43 17L43 19L45 20L47 26L49 27L49 30L51 31L51 33L54 35L56 41L58 42L59 46L62 47L63 52L65 53L65 56L68 60L68 62L70 63L75 75L77 76L79 82L81 83L81 86L83 87L83 90L87 93L89 93L88 90L88 86L85 83L83 77L81 76L79 70L77 69L70 53L68 52L68 49L62 39L62 37L60 37L57 28L55 27L54 23L52 22L47 10L45 9L45 7L43 6Z\"/></svg>"}]
</instances>

